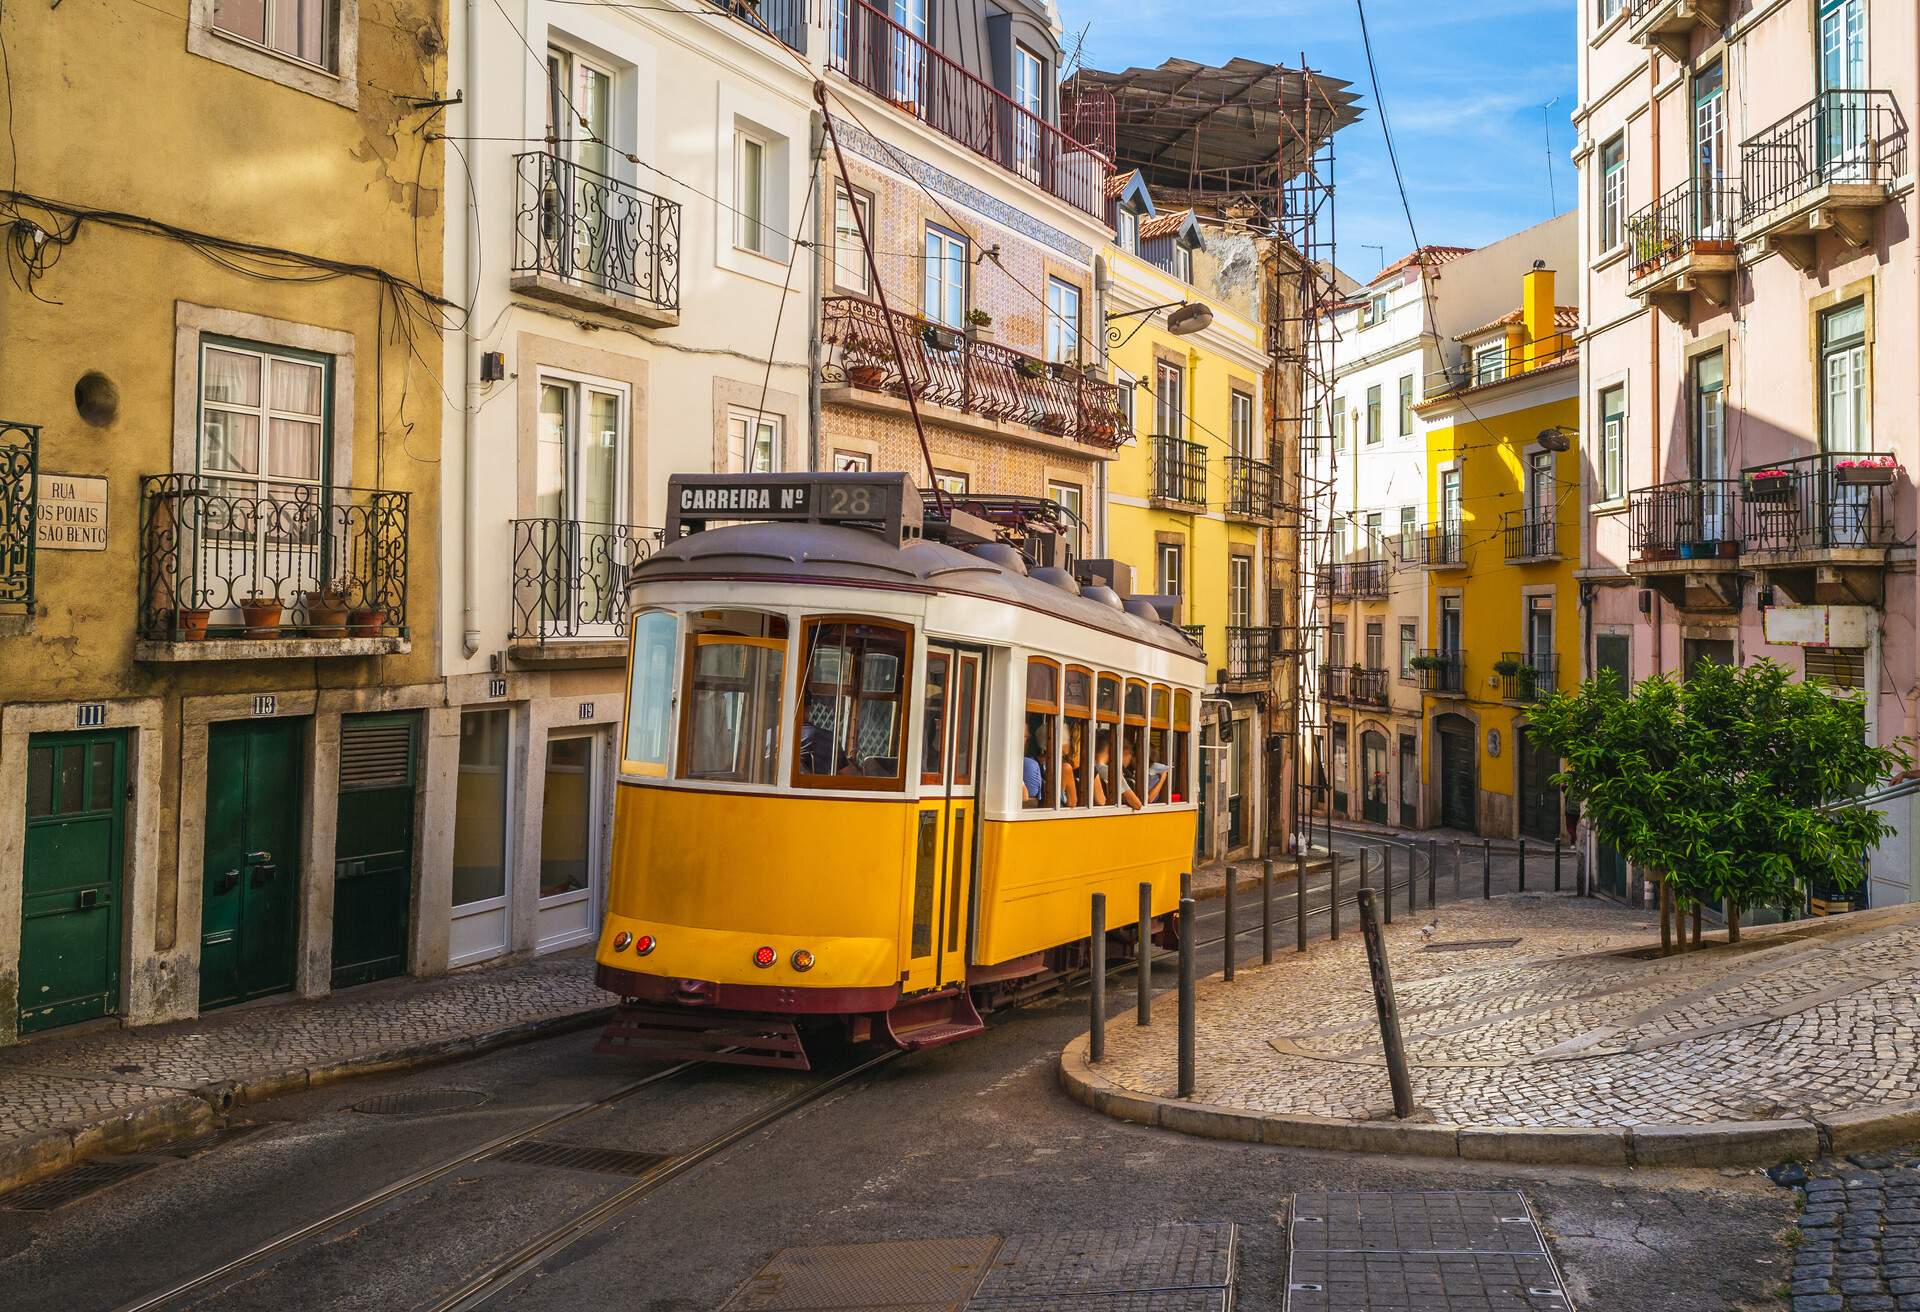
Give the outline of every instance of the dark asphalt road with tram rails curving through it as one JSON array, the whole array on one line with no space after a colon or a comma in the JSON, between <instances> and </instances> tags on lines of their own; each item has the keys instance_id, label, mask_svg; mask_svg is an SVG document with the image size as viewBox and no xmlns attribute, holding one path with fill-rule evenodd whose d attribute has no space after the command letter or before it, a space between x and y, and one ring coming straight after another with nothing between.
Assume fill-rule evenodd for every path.
<instances>
[{"instance_id":1,"label":"dark asphalt road with tram rails curving through it","mask_svg":"<svg viewBox=\"0 0 1920 1312\"><path fill-rule=\"evenodd\" d=\"M1321 899L1309 891L1309 909ZM1290 914L1290 891L1277 905ZM1202 909L1202 939L1219 935L1219 903ZM1283 926L1286 951L1292 924ZM1242 935L1246 959L1258 953L1254 895L1242 895L1240 928L1256 930ZM1204 953L1208 970L1217 955L1217 945ZM1156 980L1169 987L1173 974L1162 966ZM1110 1003L1116 1024L1129 1024L1127 972ZM486 1306L708 1312L787 1245L1231 1220L1242 1241L1236 1306L1277 1312L1286 1287L1277 1216L1294 1191L1490 1187L1517 1187L1532 1201L1578 1308L1778 1306L1793 1203L1757 1172L1359 1158L1142 1130L1058 1089L1056 1053L1083 1028L1085 995L1073 993L1002 1014L972 1041L891 1060L645 1191L530 1276L490 1291ZM561 1035L276 1099L246 1108L257 1130L198 1156L54 1212L0 1210L0 1308L136 1302L657 1070L595 1057L591 1045L591 1033ZM820 1080L693 1068L540 1139L678 1154ZM376 1095L428 1089L470 1089L486 1101L417 1116L351 1110ZM503 1254L634 1183L467 1164L169 1306L438 1308Z\"/></svg>"}]
</instances>

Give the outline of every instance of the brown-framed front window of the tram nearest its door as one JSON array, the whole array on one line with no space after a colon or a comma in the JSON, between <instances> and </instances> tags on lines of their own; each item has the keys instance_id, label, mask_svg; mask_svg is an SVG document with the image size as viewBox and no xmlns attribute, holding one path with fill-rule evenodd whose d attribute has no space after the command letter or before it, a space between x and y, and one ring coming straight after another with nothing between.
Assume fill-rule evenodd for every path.
<instances>
[{"instance_id":1,"label":"brown-framed front window of the tram nearest its door","mask_svg":"<svg viewBox=\"0 0 1920 1312\"><path fill-rule=\"evenodd\" d=\"M801 661L795 788L899 790L912 632L895 624L808 620Z\"/></svg>"}]
</instances>

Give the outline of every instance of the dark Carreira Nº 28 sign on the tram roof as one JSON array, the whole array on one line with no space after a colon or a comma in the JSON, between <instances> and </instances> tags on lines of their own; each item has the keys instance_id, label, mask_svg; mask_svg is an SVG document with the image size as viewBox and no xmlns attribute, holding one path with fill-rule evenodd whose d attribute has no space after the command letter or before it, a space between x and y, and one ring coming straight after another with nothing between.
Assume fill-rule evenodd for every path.
<instances>
[{"instance_id":1,"label":"dark Carreira N\u00ba 28 sign on the tram roof","mask_svg":"<svg viewBox=\"0 0 1920 1312\"><path fill-rule=\"evenodd\" d=\"M668 542L739 521L852 524L895 542L922 528L920 492L904 473L674 474L666 505Z\"/></svg>"}]
</instances>

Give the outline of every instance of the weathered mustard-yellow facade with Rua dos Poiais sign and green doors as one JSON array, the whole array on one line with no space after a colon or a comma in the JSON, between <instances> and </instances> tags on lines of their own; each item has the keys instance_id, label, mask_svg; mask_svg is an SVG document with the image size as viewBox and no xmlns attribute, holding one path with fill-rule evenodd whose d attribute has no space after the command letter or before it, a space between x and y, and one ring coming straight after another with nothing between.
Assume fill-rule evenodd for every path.
<instances>
[{"instance_id":1,"label":"weathered mustard-yellow facade with Rua dos Poiais sign and green doors","mask_svg":"<svg viewBox=\"0 0 1920 1312\"><path fill-rule=\"evenodd\" d=\"M445 4L0 23L0 1043L434 970Z\"/></svg>"}]
</instances>

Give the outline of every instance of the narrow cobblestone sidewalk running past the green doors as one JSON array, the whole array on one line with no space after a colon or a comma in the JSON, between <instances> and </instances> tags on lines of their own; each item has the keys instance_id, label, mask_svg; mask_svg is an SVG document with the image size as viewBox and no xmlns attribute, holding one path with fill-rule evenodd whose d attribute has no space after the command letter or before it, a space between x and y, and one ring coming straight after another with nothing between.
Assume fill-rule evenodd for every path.
<instances>
[{"instance_id":1,"label":"narrow cobblestone sidewalk running past the green doors","mask_svg":"<svg viewBox=\"0 0 1920 1312\"><path fill-rule=\"evenodd\" d=\"M0 1189L202 1131L238 1101L492 1047L611 1005L591 957L568 953L0 1049Z\"/></svg>"}]
</instances>

